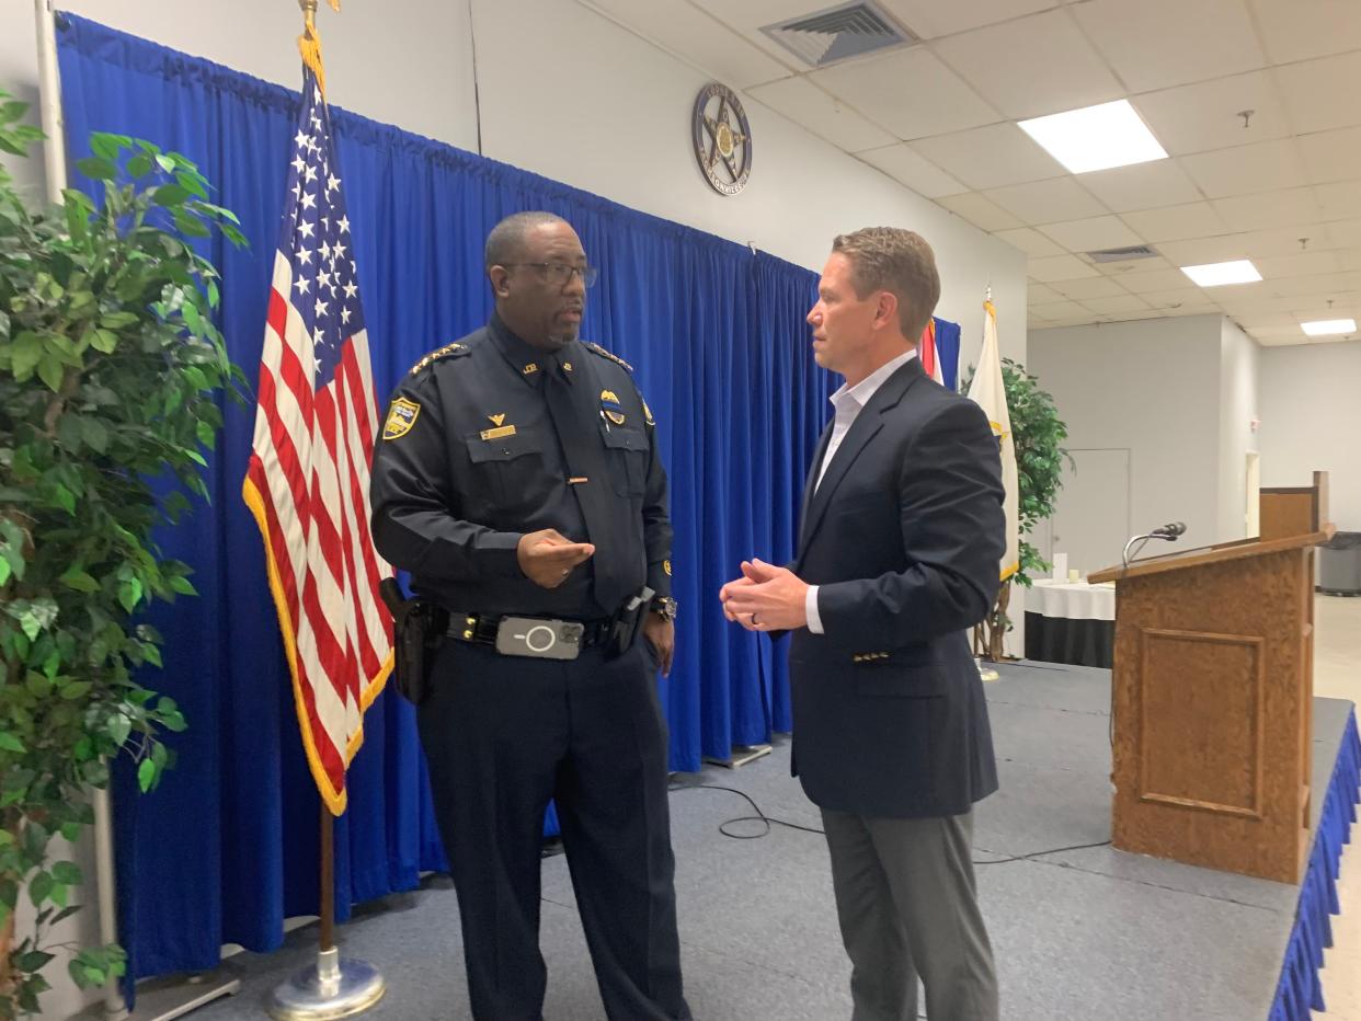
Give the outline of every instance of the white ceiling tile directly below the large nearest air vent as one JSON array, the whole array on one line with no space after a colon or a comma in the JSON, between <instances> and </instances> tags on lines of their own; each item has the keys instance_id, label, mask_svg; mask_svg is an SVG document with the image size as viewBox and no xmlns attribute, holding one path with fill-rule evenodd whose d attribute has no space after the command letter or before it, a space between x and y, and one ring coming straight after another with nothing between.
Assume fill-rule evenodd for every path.
<instances>
[{"instance_id":1,"label":"white ceiling tile directly below the large nearest air vent","mask_svg":"<svg viewBox=\"0 0 1361 1021\"><path fill-rule=\"evenodd\" d=\"M923 46L838 64L808 78L900 139L945 135L1002 120Z\"/></svg>"}]
</instances>

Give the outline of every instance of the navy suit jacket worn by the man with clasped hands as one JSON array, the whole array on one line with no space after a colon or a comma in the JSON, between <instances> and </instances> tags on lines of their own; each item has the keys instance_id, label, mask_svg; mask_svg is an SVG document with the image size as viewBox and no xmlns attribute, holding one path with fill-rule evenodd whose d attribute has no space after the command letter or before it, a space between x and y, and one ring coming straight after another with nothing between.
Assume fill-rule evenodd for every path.
<instances>
[{"instance_id":1,"label":"navy suit jacket worn by the man with clasped hands","mask_svg":"<svg viewBox=\"0 0 1361 1021\"><path fill-rule=\"evenodd\" d=\"M792 570L819 585L823 634L793 632L795 775L862 815L940 817L998 788L966 629L991 610L1004 546L987 415L917 358L860 410L803 494Z\"/></svg>"}]
</instances>

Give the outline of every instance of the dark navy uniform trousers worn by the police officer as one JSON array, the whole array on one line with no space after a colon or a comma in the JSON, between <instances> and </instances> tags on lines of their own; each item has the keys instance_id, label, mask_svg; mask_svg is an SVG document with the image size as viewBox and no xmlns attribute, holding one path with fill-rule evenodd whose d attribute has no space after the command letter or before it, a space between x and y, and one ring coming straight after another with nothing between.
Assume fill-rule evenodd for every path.
<instances>
[{"instance_id":1,"label":"dark navy uniform trousers worn by the police officer","mask_svg":"<svg viewBox=\"0 0 1361 1021\"><path fill-rule=\"evenodd\" d=\"M606 1014L687 1018L667 811L666 724L644 641L618 659L501 656L448 641L421 742L459 892L476 1018L542 1017L543 813L557 798Z\"/></svg>"}]
</instances>

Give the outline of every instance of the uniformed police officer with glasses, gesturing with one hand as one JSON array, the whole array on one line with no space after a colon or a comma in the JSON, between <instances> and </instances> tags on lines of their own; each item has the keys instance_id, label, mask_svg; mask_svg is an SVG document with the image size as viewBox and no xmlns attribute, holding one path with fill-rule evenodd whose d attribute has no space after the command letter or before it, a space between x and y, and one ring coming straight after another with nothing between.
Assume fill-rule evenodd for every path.
<instances>
[{"instance_id":1,"label":"uniformed police officer with glasses, gesturing with one hand","mask_svg":"<svg viewBox=\"0 0 1361 1021\"><path fill-rule=\"evenodd\" d=\"M606 1014L689 1018L655 687L675 602L652 412L629 366L577 339L596 271L569 223L509 216L486 268L491 321L397 387L372 489L378 553L448 619L418 722L472 1014L542 1017L553 798Z\"/></svg>"}]
</instances>

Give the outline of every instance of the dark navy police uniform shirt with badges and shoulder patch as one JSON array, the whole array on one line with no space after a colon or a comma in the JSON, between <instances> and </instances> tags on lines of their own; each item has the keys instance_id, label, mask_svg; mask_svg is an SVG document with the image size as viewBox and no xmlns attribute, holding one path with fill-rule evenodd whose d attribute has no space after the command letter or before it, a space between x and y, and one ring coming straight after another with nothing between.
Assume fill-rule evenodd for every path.
<instances>
[{"instance_id":1,"label":"dark navy police uniform shirt with badges and shoulder patch","mask_svg":"<svg viewBox=\"0 0 1361 1021\"><path fill-rule=\"evenodd\" d=\"M561 362L599 415L558 436L543 388ZM607 478L573 479L563 449L597 444ZM591 535L576 486L606 486L607 535ZM593 619L618 607L592 595L592 560L557 588L524 576L521 535L555 528L572 542L625 545L630 591L671 594L671 521L656 429L627 368L573 340L557 353L516 336L498 316L418 362L397 387L373 459L378 551L411 572L418 598L479 614Z\"/></svg>"}]
</instances>

